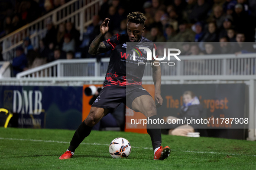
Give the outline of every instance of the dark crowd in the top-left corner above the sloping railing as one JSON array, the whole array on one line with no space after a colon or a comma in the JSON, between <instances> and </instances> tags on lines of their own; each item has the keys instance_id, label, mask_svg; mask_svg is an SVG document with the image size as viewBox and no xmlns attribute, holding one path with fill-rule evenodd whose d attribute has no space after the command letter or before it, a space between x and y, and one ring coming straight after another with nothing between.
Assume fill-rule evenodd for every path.
<instances>
[{"instance_id":1,"label":"dark crowd in the top-left corner above the sloping railing","mask_svg":"<svg viewBox=\"0 0 256 170\"><path fill-rule=\"evenodd\" d=\"M0 0L0 38L70 0Z\"/></svg>"}]
</instances>

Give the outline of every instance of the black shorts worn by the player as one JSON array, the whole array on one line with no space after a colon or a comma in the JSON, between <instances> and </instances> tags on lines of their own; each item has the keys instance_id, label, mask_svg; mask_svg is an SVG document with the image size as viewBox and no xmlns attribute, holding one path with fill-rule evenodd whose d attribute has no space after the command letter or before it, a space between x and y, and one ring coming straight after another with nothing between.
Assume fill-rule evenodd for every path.
<instances>
[{"instance_id":1,"label":"black shorts worn by the player","mask_svg":"<svg viewBox=\"0 0 256 170\"><path fill-rule=\"evenodd\" d=\"M141 85L132 86L119 86L111 85L104 87L97 99L92 104L92 107L100 107L104 109L110 109L110 111L116 109L121 103L126 104L132 109L133 100L142 95L149 95ZM138 111L138 110L134 110Z\"/></svg>"}]
</instances>

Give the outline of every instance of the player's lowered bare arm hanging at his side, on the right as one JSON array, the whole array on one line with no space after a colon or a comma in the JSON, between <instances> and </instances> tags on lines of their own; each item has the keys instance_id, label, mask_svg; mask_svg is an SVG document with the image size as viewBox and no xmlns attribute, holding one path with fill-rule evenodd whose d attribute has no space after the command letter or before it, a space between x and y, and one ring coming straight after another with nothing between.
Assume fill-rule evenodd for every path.
<instances>
[{"instance_id":1,"label":"player's lowered bare arm hanging at his side, on the right","mask_svg":"<svg viewBox=\"0 0 256 170\"><path fill-rule=\"evenodd\" d=\"M153 63L156 61L153 61ZM163 98L161 96L161 67L152 64L153 69L153 82L155 85L155 101L156 107L162 106Z\"/></svg>"}]
</instances>

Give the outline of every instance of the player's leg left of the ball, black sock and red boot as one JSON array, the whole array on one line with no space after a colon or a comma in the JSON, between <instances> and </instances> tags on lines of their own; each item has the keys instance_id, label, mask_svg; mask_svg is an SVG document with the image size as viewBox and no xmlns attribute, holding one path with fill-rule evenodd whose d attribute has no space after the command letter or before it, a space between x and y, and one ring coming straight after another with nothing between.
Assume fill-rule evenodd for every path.
<instances>
[{"instance_id":1,"label":"player's leg left of the ball, black sock and red boot","mask_svg":"<svg viewBox=\"0 0 256 170\"><path fill-rule=\"evenodd\" d=\"M89 115L75 131L68 150L62 154L59 159L71 158L74 155L75 149L80 145L84 138L90 135L92 127L98 123L100 119L102 119L108 113L108 111L108 109L103 109L100 107L91 107Z\"/></svg>"}]
</instances>

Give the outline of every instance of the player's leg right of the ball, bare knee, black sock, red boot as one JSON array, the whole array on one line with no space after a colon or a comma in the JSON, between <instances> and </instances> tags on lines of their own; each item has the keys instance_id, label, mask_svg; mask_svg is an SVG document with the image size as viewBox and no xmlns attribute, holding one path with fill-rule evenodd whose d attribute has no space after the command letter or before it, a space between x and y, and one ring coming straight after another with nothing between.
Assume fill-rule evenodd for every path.
<instances>
[{"instance_id":1,"label":"player's leg right of the ball, bare knee, black sock, red boot","mask_svg":"<svg viewBox=\"0 0 256 170\"><path fill-rule=\"evenodd\" d=\"M143 113L149 120L157 120L156 104L150 95L141 95L135 98L132 102L132 109L138 110ZM153 121L151 121L153 122ZM154 159L164 160L170 154L170 148L166 146L162 148L161 126L160 124L151 123L147 124L147 132L150 135L152 146L154 149Z\"/></svg>"}]
</instances>

